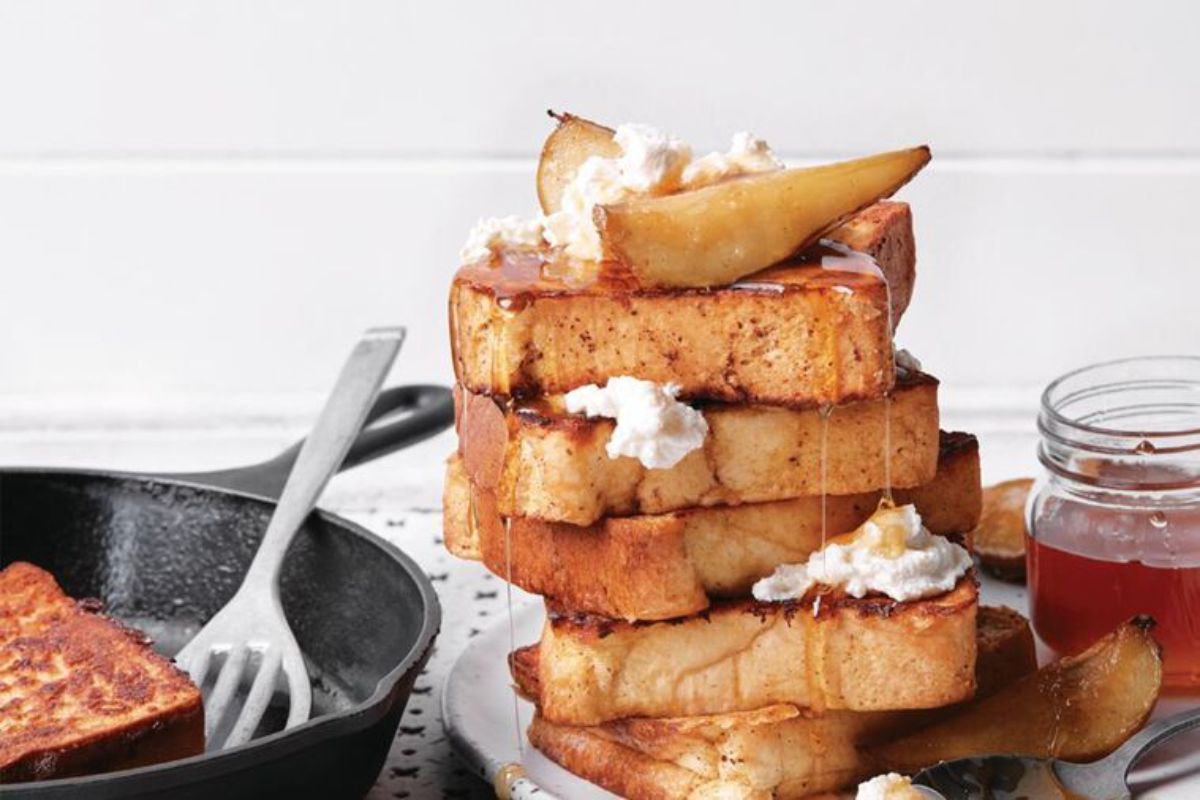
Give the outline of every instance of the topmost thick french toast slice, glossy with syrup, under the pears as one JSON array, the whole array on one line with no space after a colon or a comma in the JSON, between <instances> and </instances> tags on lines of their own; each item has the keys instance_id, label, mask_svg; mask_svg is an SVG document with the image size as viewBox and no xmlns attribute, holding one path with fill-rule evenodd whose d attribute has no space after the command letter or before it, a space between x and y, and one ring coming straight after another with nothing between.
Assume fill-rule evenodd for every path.
<instances>
[{"instance_id":1,"label":"topmost thick french toast slice, glossy with syrup, under the pears","mask_svg":"<svg viewBox=\"0 0 1200 800\"><path fill-rule=\"evenodd\" d=\"M469 391L499 397L614 375L678 384L685 399L878 397L894 379L892 333L916 276L908 206L870 206L829 239L868 258L833 263L810 252L730 287L671 290L576 283L530 253L463 266L450 289L455 374Z\"/></svg>"}]
</instances>

